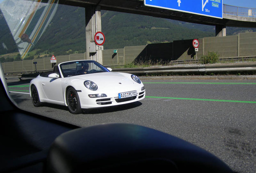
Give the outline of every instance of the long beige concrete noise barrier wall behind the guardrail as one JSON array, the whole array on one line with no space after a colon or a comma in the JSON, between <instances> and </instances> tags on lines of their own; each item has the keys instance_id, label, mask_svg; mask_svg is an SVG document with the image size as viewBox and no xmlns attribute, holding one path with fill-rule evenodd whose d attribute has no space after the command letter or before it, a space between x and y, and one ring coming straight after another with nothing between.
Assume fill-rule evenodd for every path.
<instances>
[{"instance_id":1,"label":"long beige concrete noise barrier wall behind the guardrail","mask_svg":"<svg viewBox=\"0 0 256 173\"><path fill-rule=\"evenodd\" d=\"M103 65L129 64L131 62L169 62L171 60L195 60L196 56L217 52L220 58L256 55L256 32L240 33L236 36L200 38L198 52L192 46L193 39L175 40L169 43L126 46L103 50ZM52 69L51 57L2 63L4 72L19 72ZM86 53L57 56L57 64L70 60L86 59Z\"/></svg>"}]
</instances>

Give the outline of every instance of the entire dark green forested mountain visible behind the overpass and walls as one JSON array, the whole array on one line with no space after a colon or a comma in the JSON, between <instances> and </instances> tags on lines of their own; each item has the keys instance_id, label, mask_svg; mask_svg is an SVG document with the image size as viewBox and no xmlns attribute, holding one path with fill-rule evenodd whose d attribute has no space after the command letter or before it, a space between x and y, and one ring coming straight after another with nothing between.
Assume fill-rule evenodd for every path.
<instances>
[{"instance_id":1,"label":"entire dark green forested mountain visible behind the overpass and walls","mask_svg":"<svg viewBox=\"0 0 256 173\"><path fill-rule=\"evenodd\" d=\"M6 26L4 23L4 18L0 17L1 26ZM101 11L101 23L106 38L104 49L215 36L214 26L104 10ZM14 40L8 39L11 34L2 30L3 27L0 28L1 40L4 38L4 43L9 47L15 46ZM241 30L246 28L227 28L227 35L237 34ZM85 52L85 44L85 9L59 4L52 22L33 50L36 50L37 54L52 52L57 56ZM15 48L6 50L1 46L0 54L6 54L10 50Z\"/></svg>"}]
</instances>

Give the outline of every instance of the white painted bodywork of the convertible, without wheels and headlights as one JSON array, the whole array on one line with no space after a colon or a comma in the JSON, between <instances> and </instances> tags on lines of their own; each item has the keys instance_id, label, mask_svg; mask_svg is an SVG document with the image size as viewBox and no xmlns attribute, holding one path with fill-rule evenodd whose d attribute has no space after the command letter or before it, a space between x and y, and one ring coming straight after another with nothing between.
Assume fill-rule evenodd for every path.
<instances>
[{"instance_id":1,"label":"white painted bodywork of the convertible, without wheels and headlights","mask_svg":"<svg viewBox=\"0 0 256 173\"><path fill-rule=\"evenodd\" d=\"M70 61L76 62L92 62L92 60ZM145 88L142 82L138 83L131 77L132 74L122 72L97 72L91 74L82 74L76 76L65 76L62 70L62 64L58 65L58 73L47 73L46 76L39 75L30 82L30 95L32 97L32 86L34 85L38 91L41 103L53 103L68 106L66 100L66 91L69 87L73 87L79 97L81 109L91 109L99 107L107 107L114 105L122 105L140 101L145 98ZM105 68L105 67L104 67ZM72 68L74 70L74 68ZM98 68L99 69L99 68ZM105 68L106 69L106 68ZM103 70L105 70L103 69ZM66 70L66 69L65 69ZM101 69L100 69L101 70ZM89 70L90 71L90 70ZM93 81L97 85L97 90L93 91L85 87L85 81ZM130 93L133 91L133 93ZM119 93L123 93L126 98L119 99ZM136 96L129 97L127 94ZM105 94L107 97L90 98L89 95L101 96ZM33 98L32 98L33 100Z\"/></svg>"}]
</instances>

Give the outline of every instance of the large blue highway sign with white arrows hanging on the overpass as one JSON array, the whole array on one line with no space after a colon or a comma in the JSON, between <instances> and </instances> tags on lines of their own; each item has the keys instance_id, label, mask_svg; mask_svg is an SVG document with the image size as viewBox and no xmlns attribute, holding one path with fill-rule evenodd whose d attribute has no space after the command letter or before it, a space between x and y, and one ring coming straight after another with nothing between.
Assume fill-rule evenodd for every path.
<instances>
[{"instance_id":1,"label":"large blue highway sign with white arrows hanging on the overpass","mask_svg":"<svg viewBox=\"0 0 256 173\"><path fill-rule=\"evenodd\" d=\"M144 0L144 5L222 18L222 0Z\"/></svg>"}]
</instances>

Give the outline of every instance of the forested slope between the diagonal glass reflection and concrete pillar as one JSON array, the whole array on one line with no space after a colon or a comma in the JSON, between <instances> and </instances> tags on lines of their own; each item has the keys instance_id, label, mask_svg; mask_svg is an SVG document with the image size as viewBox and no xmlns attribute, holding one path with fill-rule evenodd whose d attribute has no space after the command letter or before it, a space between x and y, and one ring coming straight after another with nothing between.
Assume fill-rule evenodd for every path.
<instances>
[{"instance_id":1,"label":"forested slope between the diagonal glass reflection and concrete pillar","mask_svg":"<svg viewBox=\"0 0 256 173\"><path fill-rule=\"evenodd\" d=\"M52 22L34 49L56 55L67 51L85 52L85 9L59 5Z\"/></svg>"}]
</instances>

